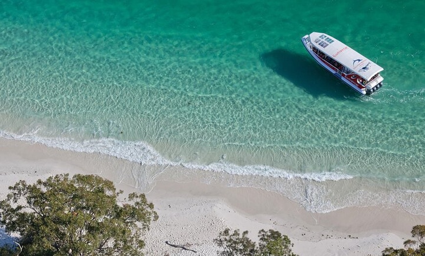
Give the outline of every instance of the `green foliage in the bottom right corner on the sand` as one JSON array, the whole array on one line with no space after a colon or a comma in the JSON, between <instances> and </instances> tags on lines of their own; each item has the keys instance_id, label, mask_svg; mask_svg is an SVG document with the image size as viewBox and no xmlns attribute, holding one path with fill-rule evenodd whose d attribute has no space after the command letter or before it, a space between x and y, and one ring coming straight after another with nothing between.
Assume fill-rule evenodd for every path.
<instances>
[{"instance_id":1,"label":"green foliage in the bottom right corner on the sand","mask_svg":"<svg viewBox=\"0 0 425 256\"><path fill-rule=\"evenodd\" d=\"M406 249L385 248L382 256L425 256L425 225L416 225L410 232L416 240L404 241Z\"/></svg>"}]
</instances>

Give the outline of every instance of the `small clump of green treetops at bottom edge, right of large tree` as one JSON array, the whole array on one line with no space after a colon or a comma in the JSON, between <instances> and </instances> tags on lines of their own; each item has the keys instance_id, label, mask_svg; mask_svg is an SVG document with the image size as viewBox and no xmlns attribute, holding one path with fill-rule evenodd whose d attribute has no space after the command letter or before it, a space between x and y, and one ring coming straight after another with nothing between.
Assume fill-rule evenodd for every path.
<instances>
[{"instance_id":1,"label":"small clump of green treetops at bottom edge, right of large tree","mask_svg":"<svg viewBox=\"0 0 425 256\"><path fill-rule=\"evenodd\" d=\"M241 236L239 230L232 233L227 228L214 242L221 247L221 251L217 252L220 256L297 256L292 253L293 244L288 236L278 231L260 230L258 237L258 245L255 245L248 237L248 231L244 231Z\"/></svg>"}]
</instances>

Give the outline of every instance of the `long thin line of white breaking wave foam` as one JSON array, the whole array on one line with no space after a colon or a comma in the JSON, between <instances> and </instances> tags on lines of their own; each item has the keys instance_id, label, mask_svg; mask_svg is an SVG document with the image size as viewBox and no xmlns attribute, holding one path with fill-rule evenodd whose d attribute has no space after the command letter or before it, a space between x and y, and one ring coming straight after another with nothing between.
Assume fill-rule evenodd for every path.
<instances>
[{"instance_id":1,"label":"long thin line of white breaking wave foam","mask_svg":"<svg viewBox=\"0 0 425 256\"><path fill-rule=\"evenodd\" d=\"M155 149L144 142L120 141L111 138L75 141L69 138L47 138L37 135L37 131L24 134L14 134L0 130L0 136L7 139L40 143L47 147L65 149L76 152L101 153L122 158L142 165L181 165L188 169L203 171L219 171L236 175L261 175L285 179L301 178L313 181L338 181L350 179L353 176L340 172L294 173L265 165L238 166L220 161L209 165L170 161L161 156Z\"/></svg>"}]
</instances>

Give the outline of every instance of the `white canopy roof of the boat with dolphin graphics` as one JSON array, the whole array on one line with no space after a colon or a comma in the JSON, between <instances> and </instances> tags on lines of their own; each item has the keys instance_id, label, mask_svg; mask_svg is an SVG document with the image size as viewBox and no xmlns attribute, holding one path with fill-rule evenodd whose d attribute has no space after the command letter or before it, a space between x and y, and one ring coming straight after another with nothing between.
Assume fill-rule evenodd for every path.
<instances>
[{"instance_id":1,"label":"white canopy roof of the boat with dolphin graphics","mask_svg":"<svg viewBox=\"0 0 425 256\"><path fill-rule=\"evenodd\" d=\"M383 71L381 66L329 35L313 32L310 34L310 41L321 52L366 80Z\"/></svg>"}]
</instances>

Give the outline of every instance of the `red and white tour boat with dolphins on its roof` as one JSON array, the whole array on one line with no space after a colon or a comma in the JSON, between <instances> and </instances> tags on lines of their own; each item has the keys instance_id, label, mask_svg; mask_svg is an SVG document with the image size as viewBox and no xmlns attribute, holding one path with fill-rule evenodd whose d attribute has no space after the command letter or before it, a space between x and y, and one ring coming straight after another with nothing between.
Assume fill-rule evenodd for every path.
<instances>
[{"instance_id":1,"label":"red and white tour boat with dolphins on its roof","mask_svg":"<svg viewBox=\"0 0 425 256\"><path fill-rule=\"evenodd\" d=\"M337 39L313 32L301 41L317 63L361 95L382 87L383 68Z\"/></svg>"}]
</instances>

